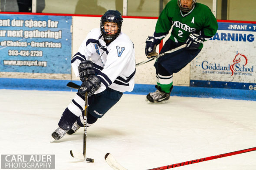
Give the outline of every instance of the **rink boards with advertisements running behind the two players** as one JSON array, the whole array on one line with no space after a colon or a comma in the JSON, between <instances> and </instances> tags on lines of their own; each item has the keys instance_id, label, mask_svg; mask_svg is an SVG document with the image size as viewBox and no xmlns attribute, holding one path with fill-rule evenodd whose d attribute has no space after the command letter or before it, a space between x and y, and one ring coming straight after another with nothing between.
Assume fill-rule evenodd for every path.
<instances>
[{"instance_id":1,"label":"rink boards with advertisements running behind the two players","mask_svg":"<svg viewBox=\"0 0 256 170\"><path fill-rule=\"evenodd\" d=\"M0 88L27 86L28 89L56 87L61 90L58 87L63 87L65 90L66 82L79 80L72 73L71 57L88 32L99 26L100 16L0 15ZM135 44L136 63L146 60L144 41L153 34L156 21L153 17L124 17L122 32ZM204 42L197 58L174 74L174 86L183 89L184 94L191 90L202 91L202 95L209 91L212 91L209 95L216 94L220 89L223 94L224 89L241 90L241 99L248 94L246 99L256 99L256 61L253 59L256 22L218 21L218 24L216 35ZM134 93L154 89L153 63L136 68ZM40 86L33 86L39 81ZM56 85L56 82L65 83ZM175 88L172 93L176 95Z\"/></svg>"}]
</instances>

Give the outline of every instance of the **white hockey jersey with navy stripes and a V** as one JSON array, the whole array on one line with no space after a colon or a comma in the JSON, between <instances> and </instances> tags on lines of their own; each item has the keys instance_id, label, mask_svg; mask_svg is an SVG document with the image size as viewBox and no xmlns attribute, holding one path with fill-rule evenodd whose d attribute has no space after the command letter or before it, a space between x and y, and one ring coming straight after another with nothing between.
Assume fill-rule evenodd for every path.
<instances>
[{"instance_id":1,"label":"white hockey jersey with navy stripes and a V","mask_svg":"<svg viewBox=\"0 0 256 170\"><path fill-rule=\"evenodd\" d=\"M95 94L111 88L119 92L132 91L135 78L135 49L130 38L120 32L106 45L100 28L92 29L73 56L71 65L77 77L81 61L91 60L97 77L102 81Z\"/></svg>"}]
</instances>

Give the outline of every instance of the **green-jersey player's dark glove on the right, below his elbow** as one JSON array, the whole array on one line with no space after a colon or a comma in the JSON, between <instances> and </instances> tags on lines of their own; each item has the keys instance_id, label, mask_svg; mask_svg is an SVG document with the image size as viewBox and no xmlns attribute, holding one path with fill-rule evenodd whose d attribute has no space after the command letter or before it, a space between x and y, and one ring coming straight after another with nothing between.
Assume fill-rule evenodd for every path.
<instances>
[{"instance_id":1,"label":"green-jersey player's dark glove on the right, below his elbow","mask_svg":"<svg viewBox=\"0 0 256 170\"><path fill-rule=\"evenodd\" d=\"M201 35L197 33L191 33L186 41L187 49L189 50L197 49L200 46L200 43L203 42L203 40L204 38Z\"/></svg>"}]
</instances>

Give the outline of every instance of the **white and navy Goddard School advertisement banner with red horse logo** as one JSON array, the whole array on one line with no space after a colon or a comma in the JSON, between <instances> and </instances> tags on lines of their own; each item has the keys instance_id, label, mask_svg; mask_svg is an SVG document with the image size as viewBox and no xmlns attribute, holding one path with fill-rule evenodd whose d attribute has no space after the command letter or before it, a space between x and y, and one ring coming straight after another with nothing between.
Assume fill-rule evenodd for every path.
<instances>
[{"instance_id":1,"label":"white and navy Goddard School advertisement banner with red horse logo","mask_svg":"<svg viewBox=\"0 0 256 170\"><path fill-rule=\"evenodd\" d=\"M190 64L190 86L256 90L256 24L218 24Z\"/></svg>"}]
</instances>

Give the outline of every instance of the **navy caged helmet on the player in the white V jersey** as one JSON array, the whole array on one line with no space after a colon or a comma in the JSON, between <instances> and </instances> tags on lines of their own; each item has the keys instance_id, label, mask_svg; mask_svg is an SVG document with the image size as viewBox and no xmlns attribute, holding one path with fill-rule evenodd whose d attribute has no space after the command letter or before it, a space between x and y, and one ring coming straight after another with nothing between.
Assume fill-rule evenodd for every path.
<instances>
[{"instance_id":1,"label":"navy caged helmet on the player in the white V jersey","mask_svg":"<svg viewBox=\"0 0 256 170\"><path fill-rule=\"evenodd\" d=\"M118 26L118 32L114 35L109 35L108 32L104 29L105 22L115 22ZM100 29L103 35L104 40L107 41L113 41L115 38L118 37L119 33L121 32L121 26L122 26L123 18L121 16L121 13L117 10L108 10L104 13L104 15L101 18L101 24Z\"/></svg>"}]
</instances>

